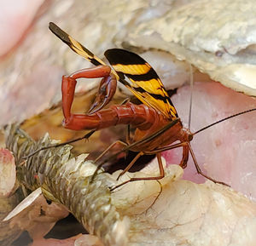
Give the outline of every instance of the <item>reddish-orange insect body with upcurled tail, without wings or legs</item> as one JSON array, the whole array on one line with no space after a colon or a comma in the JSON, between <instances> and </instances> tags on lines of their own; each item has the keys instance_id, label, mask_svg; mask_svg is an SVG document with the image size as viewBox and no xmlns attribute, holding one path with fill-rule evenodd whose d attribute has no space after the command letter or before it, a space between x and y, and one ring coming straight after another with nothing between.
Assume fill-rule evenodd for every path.
<instances>
[{"instance_id":1,"label":"reddish-orange insect body with upcurled tail, without wings or legs","mask_svg":"<svg viewBox=\"0 0 256 246\"><path fill-rule=\"evenodd\" d=\"M73 114L71 106L73 103L73 94L76 86L76 79L79 77L108 77L110 74L105 73L106 66L98 66L98 69L84 69L72 76L62 77L62 107L64 114L63 126L67 129L84 130L84 129L104 129L118 124L129 124L136 128L133 141L147 138L155 132L158 132L166 124L170 123L170 119L153 107L146 105L135 105L126 103L120 106L110 106L108 109L98 110L90 114ZM79 74L79 75L78 75ZM74 78L75 77L75 78ZM113 82L114 78L112 78ZM97 102L96 104L99 104ZM102 106L101 106L102 107ZM192 135L188 129L183 129L181 121L166 130L165 134L148 140L145 143L138 144L131 150L136 152L152 152L162 146L171 145L173 142L180 140L182 142L189 140Z\"/></svg>"}]
</instances>

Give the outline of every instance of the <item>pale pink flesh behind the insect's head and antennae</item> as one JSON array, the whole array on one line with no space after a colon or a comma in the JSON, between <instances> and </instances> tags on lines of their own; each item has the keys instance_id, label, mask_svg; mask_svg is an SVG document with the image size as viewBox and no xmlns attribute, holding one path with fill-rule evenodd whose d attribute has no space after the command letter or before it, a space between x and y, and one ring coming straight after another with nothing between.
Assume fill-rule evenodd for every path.
<instances>
[{"instance_id":1,"label":"pale pink flesh behind the insect's head and antennae","mask_svg":"<svg viewBox=\"0 0 256 246\"><path fill-rule=\"evenodd\" d=\"M189 87L178 89L172 97L179 117L187 127ZM227 89L219 83L196 83L193 91L191 131L207 126L237 112L256 107L256 100ZM191 145L201 169L212 178L231 185L256 200L256 112L232 118L196 134ZM180 150L163 153L167 163L179 163ZM204 182L189 163L183 179Z\"/></svg>"}]
</instances>

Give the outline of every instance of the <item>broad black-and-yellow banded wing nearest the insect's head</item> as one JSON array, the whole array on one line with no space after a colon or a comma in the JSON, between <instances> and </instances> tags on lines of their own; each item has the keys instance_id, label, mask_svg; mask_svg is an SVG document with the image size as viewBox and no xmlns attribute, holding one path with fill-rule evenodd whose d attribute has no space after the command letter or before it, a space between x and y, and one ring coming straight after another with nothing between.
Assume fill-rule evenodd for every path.
<instances>
[{"instance_id":1,"label":"broad black-and-yellow banded wing nearest the insect's head","mask_svg":"<svg viewBox=\"0 0 256 246\"><path fill-rule=\"evenodd\" d=\"M125 84L145 105L163 113L166 117L177 117L175 107L160 81L157 73L139 55L125 49L108 49L105 52L109 63L120 79L128 77L131 83Z\"/></svg>"}]
</instances>

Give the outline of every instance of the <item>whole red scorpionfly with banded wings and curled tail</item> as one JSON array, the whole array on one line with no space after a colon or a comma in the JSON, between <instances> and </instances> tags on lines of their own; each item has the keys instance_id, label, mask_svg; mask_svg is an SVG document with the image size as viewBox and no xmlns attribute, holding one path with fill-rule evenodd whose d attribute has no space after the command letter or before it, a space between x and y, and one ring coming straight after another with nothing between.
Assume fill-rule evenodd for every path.
<instances>
[{"instance_id":1,"label":"whole red scorpionfly with banded wings and curled tail","mask_svg":"<svg viewBox=\"0 0 256 246\"><path fill-rule=\"evenodd\" d=\"M143 60L139 55L125 49L108 49L105 52L105 56L113 67L112 69L54 23L49 23L49 29L57 37L61 38L64 43L67 43L74 52L96 65L96 67L83 69L73 72L70 76L62 77L61 91L64 127L73 130L91 129L93 131L117 124L127 124L134 127L136 130L132 140L128 137L127 143L122 142L122 144L126 146L124 149L129 148L131 151L138 152L138 154L119 176L131 169L131 166L137 161L138 157L147 154L156 154L160 170L158 176L131 178L125 183L135 180L160 180L165 175L160 153L182 147L183 157L179 164L183 169L187 166L190 152L198 174L213 182L224 184L201 172L189 142L195 134L203 129L191 133L189 129L183 128L183 123L177 116L177 111L163 83L161 83L160 77L158 77L148 62ZM75 86L77 79L80 77L102 77L96 100L87 114L73 114L71 112ZM129 80L126 80L125 77ZM123 83L143 104L135 105L131 102L126 102L124 105L115 105L107 109L102 109L113 98L117 81ZM241 113L231 117L235 117ZM225 119L228 118L230 117ZM214 124L212 123L204 129ZM178 142L173 144L176 141ZM109 148L113 147L113 145L109 146Z\"/></svg>"}]
</instances>

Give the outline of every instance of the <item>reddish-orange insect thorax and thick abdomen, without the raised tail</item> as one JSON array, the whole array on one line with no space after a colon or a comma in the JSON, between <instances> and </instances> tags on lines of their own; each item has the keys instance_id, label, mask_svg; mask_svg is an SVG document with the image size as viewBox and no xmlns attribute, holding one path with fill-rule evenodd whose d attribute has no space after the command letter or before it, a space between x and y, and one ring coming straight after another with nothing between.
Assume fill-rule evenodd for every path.
<instances>
[{"instance_id":1,"label":"reddish-orange insect thorax and thick abdomen, without the raised tail","mask_svg":"<svg viewBox=\"0 0 256 246\"><path fill-rule=\"evenodd\" d=\"M65 118L63 126L67 129L104 129L118 124L130 124L136 128L133 141L141 140L159 131L167 123L170 123L160 112L145 105L127 103L122 106L110 106L90 115L71 115ZM177 140L187 140L188 132L183 129L181 122L176 123L171 129L159 138L147 141L131 148L133 151L151 152L161 146L167 146Z\"/></svg>"}]
</instances>

